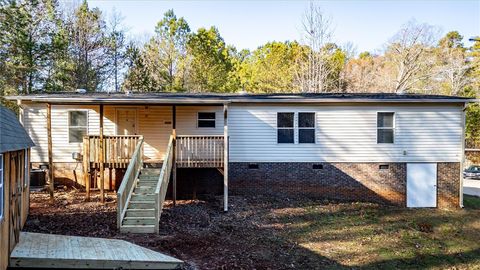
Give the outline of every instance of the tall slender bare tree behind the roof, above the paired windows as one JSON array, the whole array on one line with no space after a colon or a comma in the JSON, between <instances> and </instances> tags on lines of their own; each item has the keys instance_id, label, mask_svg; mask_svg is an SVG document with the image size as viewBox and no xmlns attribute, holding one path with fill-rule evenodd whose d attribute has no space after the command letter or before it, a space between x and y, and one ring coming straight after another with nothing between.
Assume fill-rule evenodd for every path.
<instances>
[{"instance_id":1,"label":"tall slender bare tree behind the roof, above the paired windows","mask_svg":"<svg viewBox=\"0 0 480 270\"><path fill-rule=\"evenodd\" d=\"M308 47L296 72L299 88L302 92L326 92L331 68L328 64L328 52L323 48L332 38L330 19L323 14L319 6L310 3L303 16L302 26L302 42Z\"/></svg>"}]
</instances>

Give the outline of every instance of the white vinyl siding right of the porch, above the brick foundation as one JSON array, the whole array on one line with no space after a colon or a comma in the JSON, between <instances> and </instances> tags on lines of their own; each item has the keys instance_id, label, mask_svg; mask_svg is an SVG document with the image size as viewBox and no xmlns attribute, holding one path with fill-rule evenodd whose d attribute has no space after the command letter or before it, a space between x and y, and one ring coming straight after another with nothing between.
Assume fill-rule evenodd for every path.
<instances>
[{"instance_id":1,"label":"white vinyl siding right of the porch, above the brick foundation","mask_svg":"<svg viewBox=\"0 0 480 270\"><path fill-rule=\"evenodd\" d=\"M316 112L316 144L277 144L276 113L281 111ZM395 112L394 144L376 143L378 111ZM461 107L452 105L233 104L230 161L459 162L461 114Z\"/></svg>"}]
</instances>

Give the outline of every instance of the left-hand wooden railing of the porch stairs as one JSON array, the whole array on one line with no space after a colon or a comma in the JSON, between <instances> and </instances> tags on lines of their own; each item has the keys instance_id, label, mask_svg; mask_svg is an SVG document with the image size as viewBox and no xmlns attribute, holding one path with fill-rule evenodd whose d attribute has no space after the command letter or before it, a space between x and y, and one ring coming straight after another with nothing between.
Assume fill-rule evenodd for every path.
<instances>
[{"instance_id":1,"label":"left-hand wooden railing of the porch stairs","mask_svg":"<svg viewBox=\"0 0 480 270\"><path fill-rule=\"evenodd\" d=\"M127 212L127 206L132 196L135 183L137 181L140 170L143 167L143 137L137 143L132 159L128 164L122 184L117 191L117 228L120 229L122 220Z\"/></svg>"}]
</instances>

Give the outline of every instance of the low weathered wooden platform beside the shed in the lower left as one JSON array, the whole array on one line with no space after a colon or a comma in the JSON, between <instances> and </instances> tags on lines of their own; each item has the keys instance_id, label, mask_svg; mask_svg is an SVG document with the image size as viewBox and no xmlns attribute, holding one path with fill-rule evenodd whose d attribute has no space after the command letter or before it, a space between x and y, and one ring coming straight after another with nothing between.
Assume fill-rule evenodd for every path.
<instances>
[{"instance_id":1,"label":"low weathered wooden platform beside the shed in the lower left","mask_svg":"<svg viewBox=\"0 0 480 270\"><path fill-rule=\"evenodd\" d=\"M117 239L21 232L10 267L175 269L182 261Z\"/></svg>"}]
</instances>

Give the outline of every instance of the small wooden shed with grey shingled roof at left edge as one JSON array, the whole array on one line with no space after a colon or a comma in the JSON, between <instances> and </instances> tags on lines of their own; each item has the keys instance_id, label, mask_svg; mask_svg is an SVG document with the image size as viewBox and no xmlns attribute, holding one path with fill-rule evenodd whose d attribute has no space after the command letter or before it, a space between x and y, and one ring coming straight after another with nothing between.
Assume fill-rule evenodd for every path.
<instances>
[{"instance_id":1,"label":"small wooden shed with grey shingled roof at left edge","mask_svg":"<svg viewBox=\"0 0 480 270\"><path fill-rule=\"evenodd\" d=\"M0 106L0 269L7 269L29 209L29 155L34 144L17 116Z\"/></svg>"}]
</instances>

